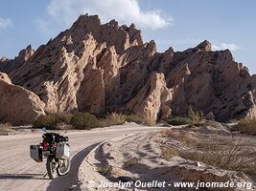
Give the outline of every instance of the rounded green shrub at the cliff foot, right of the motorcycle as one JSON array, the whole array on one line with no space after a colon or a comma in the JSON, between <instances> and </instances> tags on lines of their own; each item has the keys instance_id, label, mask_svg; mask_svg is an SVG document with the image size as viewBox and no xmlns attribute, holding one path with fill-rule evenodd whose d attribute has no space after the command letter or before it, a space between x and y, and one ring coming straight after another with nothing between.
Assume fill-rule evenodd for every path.
<instances>
[{"instance_id":1,"label":"rounded green shrub at the cliff foot, right of the motorcycle","mask_svg":"<svg viewBox=\"0 0 256 191\"><path fill-rule=\"evenodd\" d=\"M89 113L77 113L71 120L72 124L77 129L92 129L100 126L100 122L97 117Z\"/></svg>"}]
</instances>

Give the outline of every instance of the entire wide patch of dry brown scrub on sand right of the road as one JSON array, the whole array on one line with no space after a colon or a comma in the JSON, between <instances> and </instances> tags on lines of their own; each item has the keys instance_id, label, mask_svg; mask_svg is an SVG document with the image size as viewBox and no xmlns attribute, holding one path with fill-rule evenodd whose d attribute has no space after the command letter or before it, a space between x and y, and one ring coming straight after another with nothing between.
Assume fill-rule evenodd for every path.
<instances>
[{"instance_id":1,"label":"entire wide patch of dry brown scrub on sand right of the road","mask_svg":"<svg viewBox=\"0 0 256 191\"><path fill-rule=\"evenodd\" d=\"M186 134L184 134L186 133ZM163 138L172 138L184 147L167 147L161 149L162 156L172 159L179 156L184 159L201 161L208 165L224 170L241 171L246 174L255 174L256 153L248 143L234 142L228 138L195 137L192 133L182 130L165 129L160 132Z\"/></svg>"}]
</instances>

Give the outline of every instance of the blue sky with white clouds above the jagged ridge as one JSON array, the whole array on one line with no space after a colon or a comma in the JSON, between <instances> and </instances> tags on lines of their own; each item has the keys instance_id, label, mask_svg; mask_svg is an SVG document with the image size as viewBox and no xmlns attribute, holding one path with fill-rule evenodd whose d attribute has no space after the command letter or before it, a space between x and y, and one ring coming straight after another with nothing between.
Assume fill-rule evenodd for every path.
<instances>
[{"instance_id":1,"label":"blue sky with white clouds above the jagged ridge","mask_svg":"<svg viewBox=\"0 0 256 191\"><path fill-rule=\"evenodd\" d=\"M121 24L134 22L144 41L159 52L182 51L208 39L214 50L229 48L256 74L256 1L254 0L1 0L0 57L35 49L71 26L81 13L99 14Z\"/></svg>"}]
</instances>

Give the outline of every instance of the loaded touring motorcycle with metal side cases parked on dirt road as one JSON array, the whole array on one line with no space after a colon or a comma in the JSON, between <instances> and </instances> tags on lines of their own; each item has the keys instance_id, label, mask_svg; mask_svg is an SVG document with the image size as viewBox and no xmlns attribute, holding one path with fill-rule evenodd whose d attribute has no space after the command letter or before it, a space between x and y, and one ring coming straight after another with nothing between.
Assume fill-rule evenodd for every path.
<instances>
[{"instance_id":1,"label":"loaded touring motorcycle with metal side cases parked on dirt road","mask_svg":"<svg viewBox=\"0 0 256 191\"><path fill-rule=\"evenodd\" d=\"M31 158L36 162L42 162L43 158L47 159L46 169L50 179L66 175L71 164L68 137L47 133L45 128L42 131L42 142L30 146Z\"/></svg>"}]
</instances>

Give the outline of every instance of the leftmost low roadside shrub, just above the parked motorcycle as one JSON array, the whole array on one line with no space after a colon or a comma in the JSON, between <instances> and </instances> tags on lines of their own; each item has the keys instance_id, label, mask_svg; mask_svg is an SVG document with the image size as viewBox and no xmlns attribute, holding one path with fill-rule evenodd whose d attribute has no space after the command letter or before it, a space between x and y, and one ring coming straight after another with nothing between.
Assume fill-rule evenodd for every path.
<instances>
[{"instance_id":1,"label":"leftmost low roadside shrub, just above the parked motorcycle","mask_svg":"<svg viewBox=\"0 0 256 191\"><path fill-rule=\"evenodd\" d=\"M47 129L56 129L58 123L61 122L61 119L56 114L39 116L35 119L33 127L42 128L46 127Z\"/></svg>"}]
</instances>

